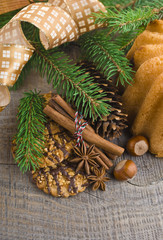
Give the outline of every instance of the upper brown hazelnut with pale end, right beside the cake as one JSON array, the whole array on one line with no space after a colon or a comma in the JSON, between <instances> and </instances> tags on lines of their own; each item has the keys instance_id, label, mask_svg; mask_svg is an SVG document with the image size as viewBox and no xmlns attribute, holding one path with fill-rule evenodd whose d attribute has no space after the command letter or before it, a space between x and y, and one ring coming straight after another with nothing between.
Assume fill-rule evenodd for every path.
<instances>
[{"instance_id":1,"label":"upper brown hazelnut with pale end, right beside the cake","mask_svg":"<svg viewBox=\"0 0 163 240\"><path fill-rule=\"evenodd\" d=\"M149 149L149 142L144 136L135 136L129 139L126 149L133 156L141 156Z\"/></svg>"}]
</instances>

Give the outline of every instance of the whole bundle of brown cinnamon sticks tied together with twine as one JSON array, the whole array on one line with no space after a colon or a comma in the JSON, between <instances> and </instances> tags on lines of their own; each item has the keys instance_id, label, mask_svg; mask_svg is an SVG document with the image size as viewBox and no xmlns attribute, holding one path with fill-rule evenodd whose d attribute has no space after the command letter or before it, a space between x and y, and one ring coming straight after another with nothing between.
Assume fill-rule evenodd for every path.
<instances>
[{"instance_id":1,"label":"whole bundle of brown cinnamon sticks tied together with twine","mask_svg":"<svg viewBox=\"0 0 163 240\"><path fill-rule=\"evenodd\" d=\"M51 98L48 105L44 108L44 113L56 123L67 129L71 134L76 132L74 121L75 111L59 95L54 95ZM82 119L82 121L84 121L84 119ZM103 149L111 159L115 159L116 156L121 156L124 152L122 147L96 134L90 125L87 125L84 129L82 137L87 144L95 144L95 152L99 153L99 157L97 157L96 160L101 166L105 167L105 169L109 169L113 163L99 148Z\"/></svg>"}]
</instances>

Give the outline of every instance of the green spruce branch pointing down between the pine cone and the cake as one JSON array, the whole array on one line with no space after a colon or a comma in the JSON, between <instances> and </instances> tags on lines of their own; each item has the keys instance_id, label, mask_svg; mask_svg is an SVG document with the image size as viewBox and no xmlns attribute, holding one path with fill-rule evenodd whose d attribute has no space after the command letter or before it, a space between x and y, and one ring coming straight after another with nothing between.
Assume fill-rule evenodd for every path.
<instances>
[{"instance_id":1,"label":"green spruce branch pointing down between the pine cone and the cake","mask_svg":"<svg viewBox=\"0 0 163 240\"><path fill-rule=\"evenodd\" d=\"M118 73L117 84L130 84L133 71L129 67L129 61L124 51L110 37L104 36L102 32L95 32L91 38L85 34L81 37L80 44L86 59L93 61L107 79Z\"/></svg>"}]
</instances>

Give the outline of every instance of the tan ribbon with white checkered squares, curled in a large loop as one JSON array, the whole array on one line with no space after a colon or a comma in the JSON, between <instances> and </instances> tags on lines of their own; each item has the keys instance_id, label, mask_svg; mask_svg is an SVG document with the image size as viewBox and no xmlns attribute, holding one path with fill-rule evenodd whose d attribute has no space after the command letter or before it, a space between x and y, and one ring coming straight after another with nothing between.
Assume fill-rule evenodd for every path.
<instances>
[{"instance_id":1,"label":"tan ribbon with white checkered squares, curled in a large loop","mask_svg":"<svg viewBox=\"0 0 163 240\"><path fill-rule=\"evenodd\" d=\"M35 25L42 45L51 49L101 27L90 17L99 11L106 9L98 0L49 0L24 7L0 29L0 85L13 86L35 50L23 34L22 21Z\"/></svg>"}]
</instances>

